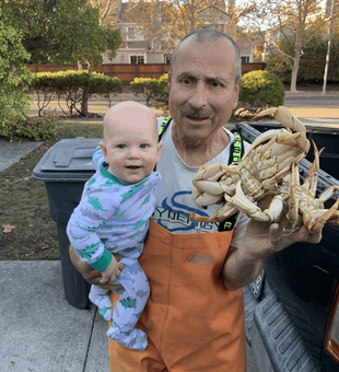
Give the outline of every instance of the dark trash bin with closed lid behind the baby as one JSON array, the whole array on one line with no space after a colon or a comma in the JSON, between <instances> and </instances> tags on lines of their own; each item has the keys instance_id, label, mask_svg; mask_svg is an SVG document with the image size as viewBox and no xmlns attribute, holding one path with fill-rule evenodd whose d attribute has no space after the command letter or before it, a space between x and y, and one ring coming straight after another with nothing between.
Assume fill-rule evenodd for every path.
<instances>
[{"instance_id":1,"label":"dark trash bin with closed lid behind the baby","mask_svg":"<svg viewBox=\"0 0 339 372\"><path fill-rule=\"evenodd\" d=\"M70 260L66 228L80 202L84 183L95 173L92 155L101 140L78 137L57 142L40 159L32 175L45 183L49 214L57 222L65 297L78 309L86 309L90 304L91 286Z\"/></svg>"}]
</instances>

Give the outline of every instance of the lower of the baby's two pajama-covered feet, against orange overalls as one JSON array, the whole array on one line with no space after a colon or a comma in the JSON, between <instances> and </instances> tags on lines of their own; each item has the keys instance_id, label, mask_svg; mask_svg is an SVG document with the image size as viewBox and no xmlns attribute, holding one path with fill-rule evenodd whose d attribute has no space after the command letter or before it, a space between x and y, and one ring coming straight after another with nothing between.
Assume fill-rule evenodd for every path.
<instances>
[{"instance_id":1,"label":"lower of the baby's two pajama-covered feet, against orange overalls","mask_svg":"<svg viewBox=\"0 0 339 372\"><path fill-rule=\"evenodd\" d=\"M148 346L148 335L138 328L121 332L114 322L107 332L107 336L128 349L143 351Z\"/></svg>"}]
</instances>

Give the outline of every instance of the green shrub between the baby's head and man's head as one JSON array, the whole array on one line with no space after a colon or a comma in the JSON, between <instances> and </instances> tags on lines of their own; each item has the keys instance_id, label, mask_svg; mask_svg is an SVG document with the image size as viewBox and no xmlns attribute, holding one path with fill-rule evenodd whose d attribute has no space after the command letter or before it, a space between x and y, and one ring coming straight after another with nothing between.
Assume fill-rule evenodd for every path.
<instances>
[{"instance_id":1,"label":"green shrub between the baby's head and man's head","mask_svg":"<svg viewBox=\"0 0 339 372\"><path fill-rule=\"evenodd\" d=\"M164 73L160 79L136 78L129 84L129 90L137 94L142 94L148 106L168 106L168 74Z\"/></svg>"}]
</instances>

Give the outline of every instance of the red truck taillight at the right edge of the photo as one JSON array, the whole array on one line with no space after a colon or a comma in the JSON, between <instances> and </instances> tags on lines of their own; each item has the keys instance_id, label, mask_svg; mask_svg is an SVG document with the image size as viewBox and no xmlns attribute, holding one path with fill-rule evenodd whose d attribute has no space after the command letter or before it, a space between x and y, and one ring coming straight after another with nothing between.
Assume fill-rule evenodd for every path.
<instances>
[{"instance_id":1,"label":"red truck taillight at the right edge of the photo","mask_svg":"<svg viewBox=\"0 0 339 372\"><path fill-rule=\"evenodd\" d=\"M339 363L339 286L327 321L324 348Z\"/></svg>"}]
</instances>

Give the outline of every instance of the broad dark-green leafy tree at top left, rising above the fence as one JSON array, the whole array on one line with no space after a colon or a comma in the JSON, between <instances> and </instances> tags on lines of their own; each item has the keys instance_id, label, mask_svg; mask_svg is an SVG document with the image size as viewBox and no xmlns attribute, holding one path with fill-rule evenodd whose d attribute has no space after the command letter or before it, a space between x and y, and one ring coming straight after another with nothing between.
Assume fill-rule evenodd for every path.
<instances>
[{"instance_id":1,"label":"broad dark-green leafy tree at top left, rising above the fence","mask_svg":"<svg viewBox=\"0 0 339 372\"><path fill-rule=\"evenodd\" d=\"M102 63L102 54L121 45L119 30L100 23L98 9L86 0L0 0L9 25L23 33L28 62Z\"/></svg>"}]
</instances>

